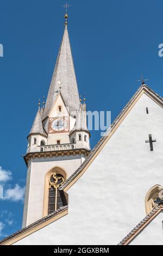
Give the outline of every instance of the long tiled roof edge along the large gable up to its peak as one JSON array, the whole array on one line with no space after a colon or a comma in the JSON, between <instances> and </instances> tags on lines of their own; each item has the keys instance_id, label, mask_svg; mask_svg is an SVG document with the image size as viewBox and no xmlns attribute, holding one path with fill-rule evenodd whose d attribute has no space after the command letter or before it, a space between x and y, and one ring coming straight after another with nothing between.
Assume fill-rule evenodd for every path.
<instances>
[{"instance_id":1,"label":"long tiled roof edge along the large gable up to its peak","mask_svg":"<svg viewBox=\"0 0 163 256\"><path fill-rule=\"evenodd\" d=\"M161 102L163 102L163 98L156 94L151 88L149 88L146 84L142 84L139 89L136 91L136 93L133 95L133 97L131 97L131 99L129 100L129 102L127 103L127 105L122 109L121 113L118 114L118 116L116 117L116 119L113 121L113 123L111 124L111 126L109 127L108 131L105 132L105 134L103 135L103 137L101 137L101 139L98 141L98 143L95 145L95 147L91 150L90 154L87 156L87 158L85 159L85 161L82 163L82 165L65 181L65 183L60 187L60 190L64 190L64 188L70 184L70 182L76 178L76 176L82 172L82 170L84 169L84 167L86 166L86 164L90 161L90 159L93 157L93 155L95 155L96 151L99 149L99 147L101 147L101 145L104 143L105 139L108 137L109 133L112 131L112 129L115 127L115 125L117 124L117 122L120 120L120 118L122 117L122 115L127 111L127 109L129 108L129 106L131 105L131 103L133 102L133 100L135 99L135 97L137 96L137 94L140 92L140 90L142 90L143 88L145 88L148 92L152 93L154 97L156 97L156 99L159 99Z\"/></svg>"}]
</instances>

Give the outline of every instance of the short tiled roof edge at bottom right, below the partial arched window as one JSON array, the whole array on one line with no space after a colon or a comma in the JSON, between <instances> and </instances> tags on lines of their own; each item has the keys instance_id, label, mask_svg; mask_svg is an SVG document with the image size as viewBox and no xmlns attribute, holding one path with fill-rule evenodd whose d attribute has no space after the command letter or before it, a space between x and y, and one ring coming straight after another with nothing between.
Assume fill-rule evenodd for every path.
<instances>
[{"instance_id":1,"label":"short tiled roof edge at bottom right, below the partial arched window","mask_svg":"<svg viewBox=\"0 0 163 256\"><path fill-rule=\"evenodd\" d=\"M145 224L147 223L147 221L150 220L150 218L151 218L158 210L160 210L160 207L155 206L155 208L153 208L153 210L152 210L145 218L143 218L143 220L142 220L139 224L137 224L136 227L135 227L134 229L132 229L132 230L130 231L130 233L129 233L127 236L125 236L124 239L123 239L120 243L118 243L118 245L123 245L124 243L126 243L137 231L139 231L139 229L140 229L141 227L143 227L143 225L145 225Z\"/></svg>"}]
</instances>

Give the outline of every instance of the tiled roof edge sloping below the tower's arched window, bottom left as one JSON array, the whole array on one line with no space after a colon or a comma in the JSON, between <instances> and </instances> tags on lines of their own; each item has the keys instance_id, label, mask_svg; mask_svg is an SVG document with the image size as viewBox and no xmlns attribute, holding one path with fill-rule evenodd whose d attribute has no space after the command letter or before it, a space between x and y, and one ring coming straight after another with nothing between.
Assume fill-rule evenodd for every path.
<instances>
[{"instance_id":1,"label":"tiled roof edge sloping below the tower's arched window, bottom left","mask_svg":"<svg viewBox=\"0 0 163 256\"><path fill-rule=\"evenodd\" d=\"M16 233L5 237L3 240L0 241L0 245L1 245L3 242L9 240L10 238L13 238L14 236L20 235L20 234L24 233L24 231L28 231L28 229L33 228L33 227L35 227L35 226L37 226L37 225L39 225L39 224L41 224L41 223L43 223L43 222L46 222L47 220L49 220L49 219L51 219L52 217L54 217L54 215L57 215L59 212L64 211L64 210L66 210L66 209L68 209L68 205L67 205L67 206L62 206L62 207L59 208L57 211L52 212L52 214L49 214L49 215L47 215L47 216L41 218L40 220L38 220L38 221L36 221L36 222L34 222L34 223L28 225L26 228L22 228L22 229L18 230Z\"/></svg>"}]
</instances>

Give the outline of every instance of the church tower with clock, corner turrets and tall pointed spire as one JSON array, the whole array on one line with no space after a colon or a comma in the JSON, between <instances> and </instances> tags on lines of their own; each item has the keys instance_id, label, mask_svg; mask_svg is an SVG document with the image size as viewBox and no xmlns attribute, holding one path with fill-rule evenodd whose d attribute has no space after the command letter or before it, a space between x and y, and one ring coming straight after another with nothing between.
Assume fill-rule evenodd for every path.
<instances>
[{"instance_id":1,"label":"church tower with clock, corner turrets and tall pointed spire","mask_svg":"<svg viewBox=\"0 0 163 256\"><path fill-rule=\"evenodd\" d=\"M67 30L62 38L46 104L36 113L28 135L23 227L67 205L58 190L90 153L86 105L79 100ZM45 105L45 106L44 106Z\"/></svg>"}]
</instances>

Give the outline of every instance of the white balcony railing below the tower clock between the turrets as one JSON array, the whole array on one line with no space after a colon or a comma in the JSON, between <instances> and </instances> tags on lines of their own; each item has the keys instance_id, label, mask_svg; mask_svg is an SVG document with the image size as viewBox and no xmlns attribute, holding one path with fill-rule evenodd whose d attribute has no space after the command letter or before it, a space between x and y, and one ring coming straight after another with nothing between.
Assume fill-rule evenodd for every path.
<instances>
[{"instance_id":1,"label":"white balcony railing below the tower clock between the turrets","mask_svg":"<svg viewBox=\"0 0 163 256\"><path fill-rule=\"evenodd\" d=\"M76 149L76 143L43 145L43 146L38 146L37 148L39 149L38 151L40 152L70 150L70 149Z\"/></svg>"}]
</instances>

